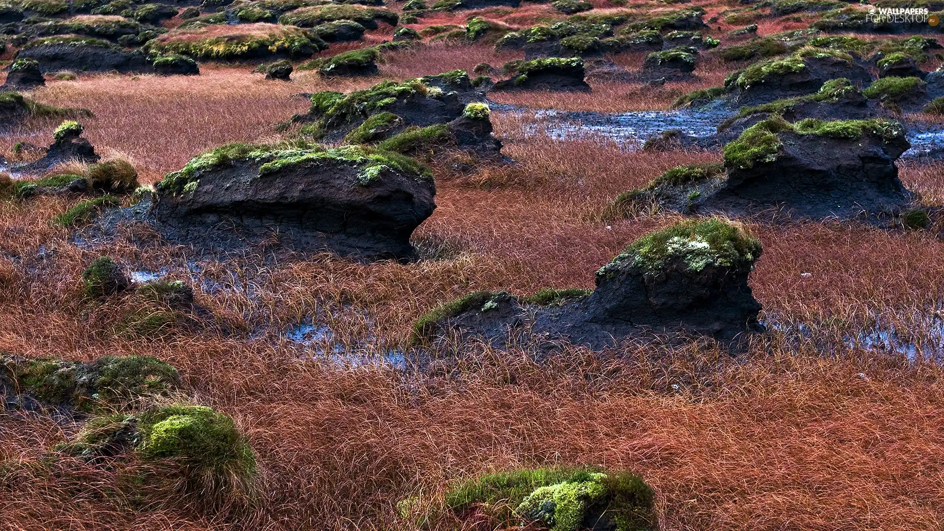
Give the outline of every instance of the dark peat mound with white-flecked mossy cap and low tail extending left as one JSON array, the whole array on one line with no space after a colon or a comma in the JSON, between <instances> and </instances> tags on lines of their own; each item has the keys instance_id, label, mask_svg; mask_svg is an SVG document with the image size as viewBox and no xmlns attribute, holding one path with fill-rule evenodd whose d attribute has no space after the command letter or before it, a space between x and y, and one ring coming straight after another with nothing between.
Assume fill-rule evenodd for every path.
<instances>
[{"instance_id":1,"label":"dark peat mound with white-flecked mossy cap and low tail extending left","mask_svg":"<svg viewBox=\"0 0 944 531\"><path fill-rule=\"evenodd\" d=\"M413 343L458 335L497 348L543 340L599 350L647 334L708 335L725 345L762 330L748 274L760 244L741 226L690 221L651 233L597 272L597 288L552 303L478 292L421 317Z\"/></svg>"}]
</instances>

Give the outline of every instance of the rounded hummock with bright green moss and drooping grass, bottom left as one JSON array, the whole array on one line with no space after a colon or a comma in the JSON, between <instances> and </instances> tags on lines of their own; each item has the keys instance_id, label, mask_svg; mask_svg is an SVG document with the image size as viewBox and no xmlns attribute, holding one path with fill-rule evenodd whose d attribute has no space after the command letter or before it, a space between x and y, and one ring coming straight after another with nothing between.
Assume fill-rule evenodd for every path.
<instances>
[{"instance_id":1,"label":"rounded hummock with bright green moss and drooping grass, bottom left","mask_svg":"<svg viewBox=\"0 0 944 531\"><path fill-rule=\"evenodd\" d=\"M245 505L258 477L256 455L228 416L202 405L149 407L91 420L59 452L92 464L131 462L126 495L163 506Z\"/></svg>"}]
</instances>

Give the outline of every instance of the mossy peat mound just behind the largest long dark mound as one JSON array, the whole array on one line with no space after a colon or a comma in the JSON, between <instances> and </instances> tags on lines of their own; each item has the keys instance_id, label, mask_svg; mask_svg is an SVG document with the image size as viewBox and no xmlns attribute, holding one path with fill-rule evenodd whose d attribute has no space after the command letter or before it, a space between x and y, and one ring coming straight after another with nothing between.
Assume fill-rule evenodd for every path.
<instances>
[{"instance_id":1,"label":"mossy peat mound just behind the largest long dark mound","mask_svg":"<svg viewBox=\"0 0 944 531\"><path fill-rule=\"evenodd\" d=\"M500 157L485 95L464 70L438 76L382 81L350 94L312 95L312 107L292 122L319 140L378 144L400 153L439 151L447 146Z\"/></svg>"}]
</instances>

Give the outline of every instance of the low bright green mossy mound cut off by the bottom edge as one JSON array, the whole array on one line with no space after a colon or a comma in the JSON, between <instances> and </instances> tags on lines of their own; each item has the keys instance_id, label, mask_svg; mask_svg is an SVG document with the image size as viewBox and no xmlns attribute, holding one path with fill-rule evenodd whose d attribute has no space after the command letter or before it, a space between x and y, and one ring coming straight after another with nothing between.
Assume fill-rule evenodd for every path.
<instances>
[{"instance_id":1,"label":"low bright green mossy mound cut off by the bottom edge","mask_svg":"<svg viewBox=\"0 0 944 531\"><path fill-rule=\"evenodd\" d=\"M654 531L658 528L654 499L652 488L631 471L503 471L457 482L446 493L447 514L427 519L474 517L493 527L505 522L552 531ZM406 500L400 506L409 513L414 505Z\"/></svg>"}]
</instances>

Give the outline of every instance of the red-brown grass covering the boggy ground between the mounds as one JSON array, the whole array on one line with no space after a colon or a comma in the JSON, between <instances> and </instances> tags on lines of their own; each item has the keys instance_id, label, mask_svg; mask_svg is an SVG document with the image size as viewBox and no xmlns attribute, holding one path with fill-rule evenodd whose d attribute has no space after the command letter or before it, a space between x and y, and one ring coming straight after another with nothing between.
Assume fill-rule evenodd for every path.
<instances>
[{"instance_id":1,"label":"red-brown grass covering the boggy ground between the mounds","mask_svg":"<svg viewBox=\"0 0 944 531\"><path fill-rule=\"evenodd\" d=\"M441 18L449 16L462 15ZM381 68L402 78L504 59L485 46L436 44L387 54ZM272 126L308 107L291 94L377 80L299 72L282 83L248 68L201 66L200 77L50 81L34 95L94 111L83 120L85 136L102 152L125 153L153 182L209 147L278 138ZM704 83L719 84L723 65L700 68ZM517 102L653 109L682 86L657 95L632 85L594 89L585 99L531 94ZM102 469L51 450L79 423L2 413L0 527L416 529L396 516L407 496L434 498L457 478L554 464L643 474L656 489L661 530L944 526L941 367L854 341L878 322L894 324L923 353L939 351L944 243L930 231L750 225L764 245L750 285L770 327L737 357L700 342L566 348L541 363L526 351L482 348L458 360L438 352L441 359L416 372L345 365L325 353L335 342L359 353L401 348L413 319L470 291L592 288L594 271L634 238L679 219L656 213L602 222L596 214L674 165L718 158L631 151L605 139L552 141L532 117L492 116L516 163L437 168L438 208L413 236L425 259L412 264L354 264L327 254L274 260L264 252L213 261L141 226L78 246L70 231L49 223L76 197L0 201L0 351L160 357L179 369L195 401L236 420L262 471L260 498L244 513L139 510L112 489L125 466ZM47 143L55 126L26 124L3 136L0 148ZM944 200L941 163L901 167L902 180L926 202ZM102 254L129 268L166 268L228 330L115 332L126 300L80 297L82 268ZM287 340L282 333L307 317L329 324L335 339Z\"/></svg>"}]
</instances>

